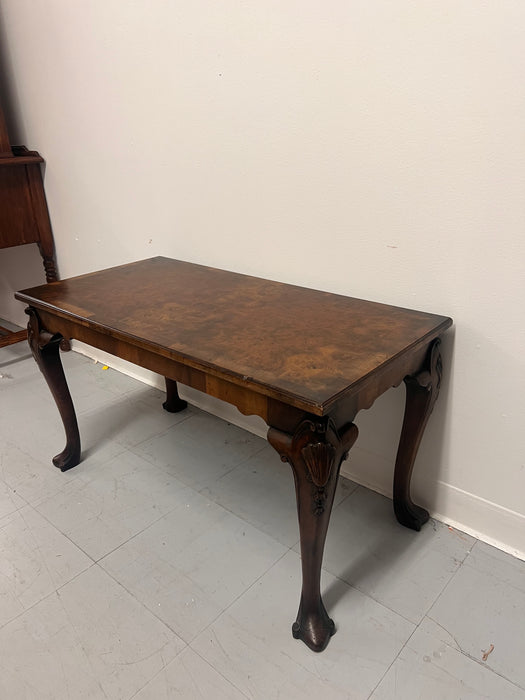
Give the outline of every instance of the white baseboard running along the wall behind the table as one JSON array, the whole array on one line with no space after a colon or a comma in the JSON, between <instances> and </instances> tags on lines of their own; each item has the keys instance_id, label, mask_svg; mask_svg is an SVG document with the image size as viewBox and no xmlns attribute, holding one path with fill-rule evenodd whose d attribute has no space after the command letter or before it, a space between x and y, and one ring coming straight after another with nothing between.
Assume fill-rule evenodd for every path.
<instances>
[{"instance_id":1,"label":"white baseboard running along the wall behind the table","mask_svg":"<svg viewBox=\"0 0 525 700\"><path fill-rule=\"evenodd\" d=\"M149 386L164 389L163 378L142 367L78 341L73 341L73 349ZM197 408L259 437L266 437L267 426L256 416L244 416L234 406L185 386L180 387L180 395ZM343 463L341 474L361 486L392 498L390 476L385 483L385 474L392 474L392 464L358 446L352 449L350 455L351 459ZM443 481L433 484L431 496L419 494L418 501L436 520L525 560L525 515Z\"/></svg>"}]
</instances>

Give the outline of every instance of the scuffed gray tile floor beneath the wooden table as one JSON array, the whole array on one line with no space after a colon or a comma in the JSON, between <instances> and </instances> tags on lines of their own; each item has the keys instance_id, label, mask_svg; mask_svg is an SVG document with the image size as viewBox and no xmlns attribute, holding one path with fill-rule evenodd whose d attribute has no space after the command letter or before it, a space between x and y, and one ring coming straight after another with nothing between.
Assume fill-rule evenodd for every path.
<instances>
[{"instance_id":1,"label":"scuffed gray tile floor beneath the wooden table","mask_svg":"<svg viewBox=\"0 0 525 700\"><path fill-rule=\"evenodd\" d=\"M26 344L0 350L2 700L525 700L525 563L439 522L406 530L342 479L323 570L338 633L314 654L290 632L287 465L118 372L63 362L84 450L65 474Z\"/></svg>"}]
</instances>

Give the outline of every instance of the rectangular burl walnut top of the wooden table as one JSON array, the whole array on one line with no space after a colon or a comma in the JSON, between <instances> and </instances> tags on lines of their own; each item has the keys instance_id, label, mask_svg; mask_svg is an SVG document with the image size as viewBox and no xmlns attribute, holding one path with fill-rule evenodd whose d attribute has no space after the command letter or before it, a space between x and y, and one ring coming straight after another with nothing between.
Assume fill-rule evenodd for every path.
<instances>
[{"instance_id":1,"label":"rectangular burl walnut top of the wooden table","mask_svg":"<svg viewBox=\"0 0 525 700\"><path fill-rule=\"evenodd\" d=\"M444 316L164 257L16 296L315 413L451 325Z\"/></svg>"}]
</instances>

